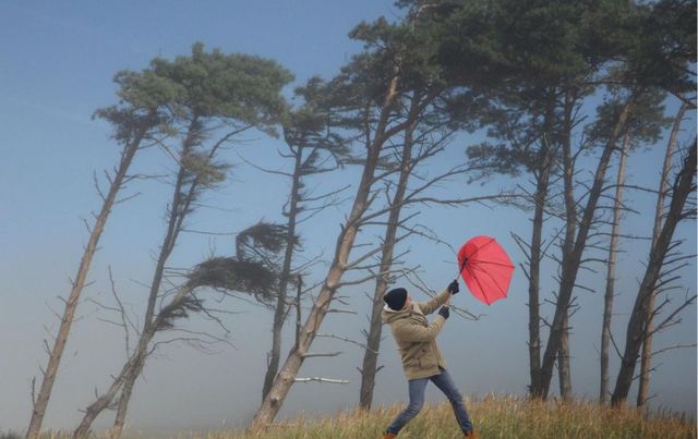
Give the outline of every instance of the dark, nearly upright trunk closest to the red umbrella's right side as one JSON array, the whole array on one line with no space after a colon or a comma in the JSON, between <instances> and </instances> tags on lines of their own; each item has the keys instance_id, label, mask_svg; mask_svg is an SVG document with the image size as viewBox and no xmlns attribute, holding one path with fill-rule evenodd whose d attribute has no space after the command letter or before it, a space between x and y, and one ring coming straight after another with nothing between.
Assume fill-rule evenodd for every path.
<instances>
[{"instance_id":1,"label":"dark, nearly upright trunk closest to the red umbrella's right side","mask_svg":"<svg viewBox=\"0 0 698 439\"><path fill-rule=\"evenodd\" d=\"M530 267L528 282L528 353L531 383L529 392L538 389L541 376L541 317L540 317L540 277L541 246L543 241L543 217L547 203L550 173L553 167L553 154L550 147L551 129L555 110L555 88L550 90L545 122L541 136L540 169L535 183L533 227L531 231Z\"/></svg>"}]
</instances>

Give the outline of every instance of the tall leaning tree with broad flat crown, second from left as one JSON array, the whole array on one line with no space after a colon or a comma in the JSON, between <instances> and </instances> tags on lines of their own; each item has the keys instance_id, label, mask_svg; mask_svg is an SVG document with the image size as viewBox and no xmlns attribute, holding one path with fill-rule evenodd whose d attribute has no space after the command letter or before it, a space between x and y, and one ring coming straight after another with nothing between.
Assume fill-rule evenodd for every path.
<instances>
[{"instance_id":1,"label":"tall leaning tree with broad flat crown, second from left","mask_svg":"<svg viewBox=\"0 0 698 439\"><path fill-rule=\"evenodd\" d=\"M173 175L166 232L156 260L140 340L122 374L110 386L108 394L111 398L99 398L87 408L75 430L79 437L87 435L92 420L111 403L116 397L115 389L120 389L121 394L110 434L120 437L132 390L152 350L152 341L158 330L168 327L168 319L158 316L163 310L172 310L168 305L159 312L156 309L158 300L163 297L160 285L166 276L167 260L202 193L225 179L227 166L218 161L217 154L246 130L256 127L270 132L285 111L280 89L291 80L291 75L273 61L225 54L219 50L206 52L201 44L193 46L190 57L177 57L173 61L155 59L149 71L179 92L168 102L173 118L166 127L168 132L181 133L179 151L173 153L172 145L159 144L174 159L178 171ZM214 135L218 136L212 139ZM184 301L180 308L189 305ZM193 306L198 307L197 304Z\"/></svg>"}]
</instances>

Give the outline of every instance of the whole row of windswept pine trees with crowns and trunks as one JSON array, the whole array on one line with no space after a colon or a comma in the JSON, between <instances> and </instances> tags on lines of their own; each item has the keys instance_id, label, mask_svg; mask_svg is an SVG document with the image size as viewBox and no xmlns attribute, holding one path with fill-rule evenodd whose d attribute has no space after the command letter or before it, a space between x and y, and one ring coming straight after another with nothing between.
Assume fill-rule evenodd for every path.
<instances>
[{"instance_id":1,"label":"whole row of windswept pine trees with crowns and trunks","mask_svg":"<svg viewBox=\"0 0 698 439\"><path fill-rule=\"evenodd\" d=\"M201 346L220 341L207 333L163 337L184 328L192 315L225 326L228 316L207 300L214 294L245 295L273 313L262 404L250 426L260 430L274 420L303 362L333 355L311 352L315 339L342 339L321 331L328 313L341 312L338 292L374 282L365 340L352 341L364 352L359 404L370 410L380 369L382 295L396 279L414 275L398 264L399 244L437 240L417 222L408 209L412 206L489 203L530 212L530 235L515 240L528 280L531 398L549 397L555 370L561 397L570 398L569 327L575 292L585 288L578 273L589 264L603 267L603 326L586 328L601 338L599 400L624 404L638 378L637 405L646 404L652 337L674 325L696 298L669 300L677 270L694 257L682 252L674 232L696 215L696 138L679 142L682 121L696 109L695 2L400 0L397 5L402 19L358 24L349 37L361 41L363 50L336 76L297 86L292 101L282 89L293 76L277 62L207 51L202 44L189 56L156 58L142 71L117 73L117 103L97 110L96 117L112 126L121 154L97 184L101 207L88 224L58 333L52 345L47 343L48 362L33 392L27 438L38 438L100 236L111 211L125 208L120 206L128 200L124 190L142 178L130 170L146 148L161 150L171 169L166 227L146 307L136 321L116 292L113 305L106 306L125 331L128 355L121 369L105 378L106 390L86 405L75 437L87 437L95 418L108 408L116 410L109 434L121 436L133 388L151 355L168 341ZM676 101L677 113L666 115L664 106ZM657 186L628 187L627 157L640 145L655 144L665 129L670 136ZM486 130L488 141L469 146L462 162L441 172L430 169L430 160L459 147L456 136L478 130ZM224 151L251 131L286 144L288 170L265 170L289 180L280 208L285 221L251 224L238 234L234 255L213 256L183 275L169 272L168 260L188 219L202 207L207 191L226 182L231 163ZM590 167L579 164L579 157ZM612 175L616 159L618 171ZM308 190L316 175L346 167L360 170L350 186L323 194ZM444 198L434 191L457 175L478 180L493 174L525 175L531 184L513 183L510 191L478 197ZM657 195L655 219L652 230L628 233L621 223L628 211L624 196L636 190ZM302 251L299 224L337 205L347 210L332 259L320 273L322 282L305 284L306 273L318 268L297 258ZM368 229L381 231L380 243L360 241ZM641 237L650 244L645 260L638 261L646 268L627 329L613 338L618 241ZM544 259L557 266L557 291L551 296L540 291ZM543 301L553 304L552 318L541 314ZM301 304L309 309L304 316ZM282 358L281 330L293 315L294 344ZM612 344L622 357L613 386ZM673 347L679 345L660 351Z\"/></svg>"}]
</instances>

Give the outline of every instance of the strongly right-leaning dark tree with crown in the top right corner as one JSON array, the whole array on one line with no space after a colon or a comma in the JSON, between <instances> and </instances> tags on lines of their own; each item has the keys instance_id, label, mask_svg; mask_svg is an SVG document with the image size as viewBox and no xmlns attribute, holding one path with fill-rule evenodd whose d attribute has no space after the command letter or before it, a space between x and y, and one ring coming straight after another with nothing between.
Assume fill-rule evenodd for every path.
<instances>
[{"instance_id":1,"label":"strongly right-leaning dark tree with crown in the top right corner","mask_svg":"<svg viewBox=\"0 0 698 439\"><path fill-rule=\"evenodd\" d=\"M599 198L602 192L604 175L609 166L609 159L616 149L616 141L622 137L624 126L628 123L629 117L638 108L641 99L653 89L665 89L673 93L676 89L685 89L695 83L691 77L693 72L687 70L686 62L689 57L695 58L695 47L689 46L693 32L695 42L695 28L687 25L685 17L681 13L687 12L688 4L683 1L665 1L651 5L628 4L627 13L611 8L605 17L617 23L617 31L610 35L602 33L598 35L602 48L614 49L615 56L610 59L625 62L624 75L619 81L613 81L614 85L622 85L627 88L627 97L617 111L613 122L611 135L607 137L601 158L597 166L594 181L587 195L586 206L578 222L578 229L574 244L563 245L567 252L563 252L561 285L557 294L555 316L552 322L551 336L543 357L542 377L543 381L538 392L534 394L545 398L550 386L552 369L555 364L555 356L559 350L565 320L570 306L571 293L575 288L579 264L587 246L589 233L593 223L594 211L597 210ZM603 9L602 9L603 11ZM666 31L666 27L658 26L657 20L661 15L661 22L669 27L677 27L678 31ZM649 26L649 27L648 27ZM670 34L670 35L667 35ZM615 41L616 45L607 45ZM667 44L672 41L672 44ZM695 45L694 45L695 46ZM609 57L614 52L601 51L601 54ZM613 76L610 78L615 80ZM609 81L602 78L602 81Z\"/></svg>"}]
</instances>

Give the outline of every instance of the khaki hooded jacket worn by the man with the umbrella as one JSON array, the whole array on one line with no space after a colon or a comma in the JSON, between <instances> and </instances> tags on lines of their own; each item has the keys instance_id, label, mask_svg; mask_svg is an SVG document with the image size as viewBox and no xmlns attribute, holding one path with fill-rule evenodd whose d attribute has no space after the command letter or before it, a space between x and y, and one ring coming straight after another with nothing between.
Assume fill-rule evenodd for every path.
<instances>
[{"instance_id":1,"label":"khaki hooded jacket worn by the man with the umbrella","mask_svg":"<svg viewBox=\"0 0 698 439\"><path fill-rule=\"evenodd\" d=\"M387 305L383 307L381 317L384 324L390 326L408 380L438 375L438 367L446 368L446 361L436 344L436 336L446 319L438 315L429 325L424 316L446 303L448 294L448 291L443 291L431 301L412 303L406 309L394 310Z\"/></svg>"}]
</instances>

